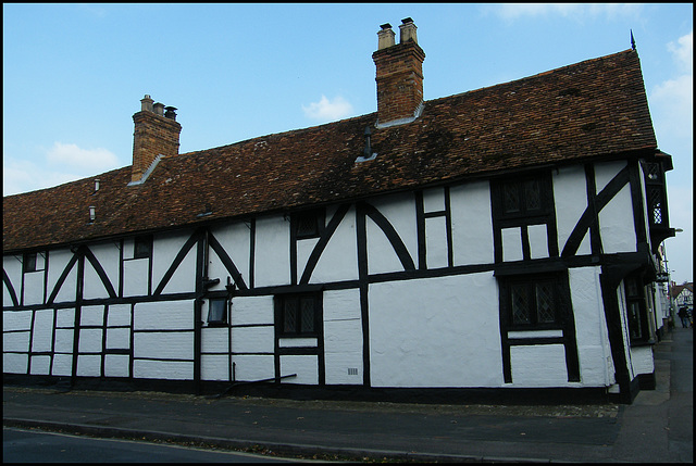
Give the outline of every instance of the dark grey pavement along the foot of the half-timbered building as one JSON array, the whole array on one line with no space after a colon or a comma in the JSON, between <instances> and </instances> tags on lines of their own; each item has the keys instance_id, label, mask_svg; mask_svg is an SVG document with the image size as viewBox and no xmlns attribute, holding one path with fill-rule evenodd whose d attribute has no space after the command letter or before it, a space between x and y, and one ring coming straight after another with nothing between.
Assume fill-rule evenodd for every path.
<instances>
[{"instance_id":1,"label":"dark grey pavement along the foot of the half-timbered building","mask_svg":"<svg viewBox=\"0 0 696 466\"><path fill-rule=\"evenodd\" d=\"M212 399L3 386L3 426L365 462L693 463L693 329L655 347L630 405Z\"/></svg>"}]
</instances>

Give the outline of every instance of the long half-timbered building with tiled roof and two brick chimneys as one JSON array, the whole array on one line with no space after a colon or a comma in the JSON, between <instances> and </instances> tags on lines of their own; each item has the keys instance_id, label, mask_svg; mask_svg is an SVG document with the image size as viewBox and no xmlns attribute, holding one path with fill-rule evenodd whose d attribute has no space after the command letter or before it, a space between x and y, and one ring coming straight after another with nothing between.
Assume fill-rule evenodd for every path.
<instances>
[{"instance_id":1,"label":"long half-timbered building with tiled roof and two brick chimneys","mask_svg":"<svg viewBox=\"0 0 696 466\"><path fill-rule=\"evenodd\" d=\"M5 381L279 393L655 386L673 236L637 51L423 100L377 33L377 111L3 198Z\"/></svg>"}]
</instances>

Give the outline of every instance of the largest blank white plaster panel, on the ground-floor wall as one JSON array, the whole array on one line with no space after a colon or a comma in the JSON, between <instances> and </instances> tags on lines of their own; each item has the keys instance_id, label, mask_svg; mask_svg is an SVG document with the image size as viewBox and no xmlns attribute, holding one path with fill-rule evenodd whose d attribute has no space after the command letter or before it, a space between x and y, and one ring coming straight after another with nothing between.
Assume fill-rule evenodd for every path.
<instances>
[{"instance_id":1,"label":"largest blank white plaster panel, on the ground-floor wall","mask_svg":"<svg viewBox=\"0 0 696 466\"><path fill-rule=\"evenodd\" d=\"M371 285L369 311L374 387L502 383L492 273Z\"/></svg>"}]
</instances>

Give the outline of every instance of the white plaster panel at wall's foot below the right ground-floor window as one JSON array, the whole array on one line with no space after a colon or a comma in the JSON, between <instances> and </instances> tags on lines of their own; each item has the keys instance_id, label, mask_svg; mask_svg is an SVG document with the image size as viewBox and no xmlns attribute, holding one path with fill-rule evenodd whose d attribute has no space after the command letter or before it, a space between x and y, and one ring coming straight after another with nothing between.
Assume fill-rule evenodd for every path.
<instances>
[{"instance_id":1,"label":"white plaster panel at wall's foot below the right ground-floor window","mask_svg":"<svg viewBox=\"0 0 696 466\"><path fill-rule=\"evenodd\" d=\"M510 348L512 385L515 387L566 387L566 348L535 344Z\"/></svg>"}]
</instances>

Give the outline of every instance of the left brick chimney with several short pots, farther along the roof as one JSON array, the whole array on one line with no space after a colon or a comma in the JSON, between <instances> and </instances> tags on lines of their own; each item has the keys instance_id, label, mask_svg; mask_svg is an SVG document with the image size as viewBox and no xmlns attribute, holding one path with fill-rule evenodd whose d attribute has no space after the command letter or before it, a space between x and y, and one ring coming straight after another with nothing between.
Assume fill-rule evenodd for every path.
<instances>
[{"instance_id":1,"label":"left brick chimney with several short pots, farther along the roof","mask_svg":"<svg viewBox=\"0 0 696 466\"><path fill-rule=\"evenodd\" d=\"M133 115L133 168L130 184L142 182L144 175L158 160L158 155L178 154L178 135L182 125L176 123L176 109L154 103L150 96L140 100L141 110Z\"/></svg>"}]
</instances>

